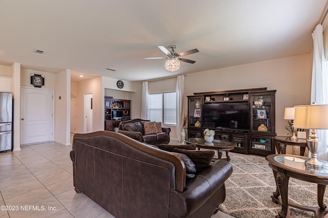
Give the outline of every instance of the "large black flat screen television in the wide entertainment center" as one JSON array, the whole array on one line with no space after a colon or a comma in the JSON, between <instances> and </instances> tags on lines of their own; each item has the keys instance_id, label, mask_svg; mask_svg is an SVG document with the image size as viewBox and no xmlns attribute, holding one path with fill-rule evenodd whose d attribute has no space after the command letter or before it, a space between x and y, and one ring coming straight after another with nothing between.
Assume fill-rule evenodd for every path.
<instances>
[{"instance_id":1,"label":"large black flat screen television in the wide entertainment center","mask_svg":"<svg viewBox=\"0 0 328 218\"><path fill-rule=\"evenodd\" d=\"M250 105L248 102L223 102L203 104L202 126L250 130Z\"/></svg>"}]
</instances>

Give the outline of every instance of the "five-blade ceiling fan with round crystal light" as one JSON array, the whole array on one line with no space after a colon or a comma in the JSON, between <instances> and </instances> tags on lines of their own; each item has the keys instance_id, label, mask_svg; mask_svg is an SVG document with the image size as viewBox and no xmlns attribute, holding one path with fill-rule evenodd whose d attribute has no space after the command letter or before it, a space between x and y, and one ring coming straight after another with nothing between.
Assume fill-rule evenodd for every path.
<instances>
[{"instance_id":1,"label":"five-blade ceiling fan with round crystal light","mask_svg":"<svg viewBox=\"0 0 328 218\"><path fill-rule=\"evenodd\" d=\"M158 46L158 48L160 50L162 50L162 52L164 52L167 55L167 57L146 57L145 59L167 59L165 61L165 68L171 72L174 72L174 71L177 71L180 69L180 61L187 62L187 63L195 63L196 62L194 60L189 60L189 59L180 58L180 57L199 52L198 49L192 49L192 50L188 50L188 51L178 54L175 52L175 48L176 48L175 45L170 46L171 51L167 50L163 46Z\"/></svg>"}]
</instances>

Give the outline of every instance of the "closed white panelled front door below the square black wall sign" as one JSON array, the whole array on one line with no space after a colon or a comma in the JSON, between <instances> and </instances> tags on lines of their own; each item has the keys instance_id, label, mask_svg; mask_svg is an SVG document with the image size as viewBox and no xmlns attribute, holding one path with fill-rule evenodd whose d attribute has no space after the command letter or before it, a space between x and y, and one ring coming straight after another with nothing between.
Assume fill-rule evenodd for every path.
<instances>
[{"instance_id":1,"label":"closed white panelled front door below the square black wall sign","mask_svg":"<svg viewBox=\"0 0 328 218\"><path fill-rule=\"evenodd\" d=\"M20 89L20 144L52 141L53 91Z\"/></svg>"}]
</instances>

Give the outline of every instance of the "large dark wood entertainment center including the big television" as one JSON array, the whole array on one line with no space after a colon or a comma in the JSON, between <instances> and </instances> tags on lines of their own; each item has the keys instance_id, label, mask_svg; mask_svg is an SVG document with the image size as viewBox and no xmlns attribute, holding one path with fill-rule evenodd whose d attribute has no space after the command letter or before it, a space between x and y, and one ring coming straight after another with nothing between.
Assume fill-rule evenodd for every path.
<instances>
[{"instance_id":1,"label":"large dark wood entertainment center including the big television","mask_svg":"<svg viewBox=\"0 0 328 218\"><path fill-rule=\"evenodd\" d=\"M235 143L233 152L275 154L276 90L267 88L194 93L188 97L188 138L215 138Z\"/></svg>"}]
</instances>

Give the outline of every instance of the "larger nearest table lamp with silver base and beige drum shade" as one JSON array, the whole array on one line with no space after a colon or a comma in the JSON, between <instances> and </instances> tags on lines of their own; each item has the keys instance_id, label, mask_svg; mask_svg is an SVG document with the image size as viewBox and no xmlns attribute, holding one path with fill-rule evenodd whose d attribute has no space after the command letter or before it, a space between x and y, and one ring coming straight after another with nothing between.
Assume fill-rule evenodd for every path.
<instances>
[{"instance_id":1,"label":"larger nearest table lamp with silver base and beige drum shade","mask_svg":"<svg viewBox=\"0 0 328 218\"><path fill-rule=\"evenodd\" d=\"M306 140L311 151L311 158L305 162L305 165L322 168L323 164L317 159L319 141L316 129L328 129L328 104L295 106L294 126L312 129L311 139Z\"/></svg>"}]
</instances>

